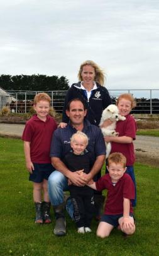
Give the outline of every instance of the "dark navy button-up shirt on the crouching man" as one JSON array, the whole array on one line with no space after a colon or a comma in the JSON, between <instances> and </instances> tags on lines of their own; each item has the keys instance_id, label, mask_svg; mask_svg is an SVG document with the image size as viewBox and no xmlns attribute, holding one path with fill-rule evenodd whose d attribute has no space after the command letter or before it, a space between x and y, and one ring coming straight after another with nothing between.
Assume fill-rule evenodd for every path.
<instances>
[{"instance_id":1,"label":"dark navy button-up shirt on the crouching man","mask_svg":"<svg viewBox=\"0 0 159 256\"><path fill-rule=\"evenodd\" d=\"M99 127L91 125L87 119L84 119L82 131L89 138L87 150L94 154L94 161L96 161L97 156L106 155L106 145ZM63 129L55 130L50 147L50 157L58 157L63 161L65 155L71 150L70 138L76 132L77 130L70 123Z\"/></svg>"}]
</instances>

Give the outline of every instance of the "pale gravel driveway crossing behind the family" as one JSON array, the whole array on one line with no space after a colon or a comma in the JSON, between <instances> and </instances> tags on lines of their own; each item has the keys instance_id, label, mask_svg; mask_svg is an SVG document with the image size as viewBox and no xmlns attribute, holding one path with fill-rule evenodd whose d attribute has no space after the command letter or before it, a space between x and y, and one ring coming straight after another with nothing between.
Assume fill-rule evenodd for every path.
<instances>
[{"instance_id":1,"label":"pale gravel driveway crossing behind the family","mask_svg":"<svg viewBox=\"0 0 159 256\"><path fill-rule=\"evenodd\" d=\"M20 138L25 125L0 123L0 136ZM159 137L136 136L136 161L159 168Z\"/></svg>"}]
</instances>

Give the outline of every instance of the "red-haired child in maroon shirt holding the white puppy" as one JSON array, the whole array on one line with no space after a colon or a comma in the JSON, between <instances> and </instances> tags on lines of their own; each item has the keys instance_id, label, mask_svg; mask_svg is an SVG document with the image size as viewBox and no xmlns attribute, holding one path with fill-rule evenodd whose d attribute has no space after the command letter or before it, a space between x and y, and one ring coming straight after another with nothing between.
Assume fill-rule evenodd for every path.
<instances>
[{"instance_id":1,"label":"red-haired child in maroon shirt holding the white puppy","mask_svg":"<svg viewBox=\"0 0 159 256\"><path fill-rule=\"evenodd\" d=\"M118 97L116 106L118 106L119 114L126 119L116 123L116 132L119 133L118 137L108 136L104 137L104 140L111 142L111 153L121 152L126 157L126 173L131 176L135 186L135 197L132 200L134 207L136 206L136 180L133 167L135 161L133 140L136 139L137 125L133 116L129 113L136 106L136 102L131 94L121 94Z\"/></svg>"}]
</instances>

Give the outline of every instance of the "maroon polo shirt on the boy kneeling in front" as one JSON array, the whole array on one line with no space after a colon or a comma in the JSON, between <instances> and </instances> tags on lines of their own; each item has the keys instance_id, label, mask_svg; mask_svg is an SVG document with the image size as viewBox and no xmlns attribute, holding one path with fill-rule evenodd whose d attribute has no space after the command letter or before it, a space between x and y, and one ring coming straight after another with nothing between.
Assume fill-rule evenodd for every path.
<instances>
[{"instance_id":1,"label":"maroon polo shirt on the boy kneeling in front","mask_svg":"<svg viewBox=\"0 0 159 256\"><path fill-rule=\"evenodd\" d=\"M108 190L104 214L123 214L123 198L134 199L134 184L127 173L124 173L115 186L112 185L111 177L107 173L96 181L96 188L99 191ZM133 213L131 202L129 212Z\"/></svg>"}]
</instances>

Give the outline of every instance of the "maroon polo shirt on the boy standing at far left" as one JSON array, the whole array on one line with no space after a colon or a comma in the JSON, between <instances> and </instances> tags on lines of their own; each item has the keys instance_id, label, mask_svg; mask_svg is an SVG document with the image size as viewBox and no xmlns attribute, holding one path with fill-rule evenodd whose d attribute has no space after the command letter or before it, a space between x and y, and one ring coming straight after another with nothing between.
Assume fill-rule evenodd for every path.
<instances>
[{"instance_id":1,"label":"maroon polo shirt on the boy standing at far left","mask_svg":"<svg viewBox=\"0 0 159 256\"><path fill-rule=\"evenodd\" d=\"M30 142L31 162L37 164L50 163L50 144L52 134L57 129L57 123L51 116L46 121L39 119L36 114L26 122L22 140Z\"/></svg>"}]
</instances>

